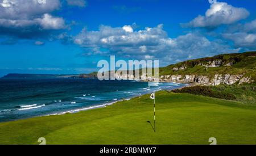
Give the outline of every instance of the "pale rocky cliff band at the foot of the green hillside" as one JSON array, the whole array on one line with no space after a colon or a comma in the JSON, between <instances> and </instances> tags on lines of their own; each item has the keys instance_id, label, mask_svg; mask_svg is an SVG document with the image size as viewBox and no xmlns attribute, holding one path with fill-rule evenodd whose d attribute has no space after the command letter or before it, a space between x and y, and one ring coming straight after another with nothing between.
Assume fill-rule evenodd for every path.
<instances>
[{"instance_id":1,"label":"pale rocky cliff band at the foot of the green hillside","mask_svg":"<svg viewBox=\"0 0 256 156\"><path fill-rule=\"evenodd\" d=\"M204 75L165 75L160 77L163 82L176 83L200 83L201 85L217 86L221 84L233 85L234 83L251 83L254 82L250 77L243 77L244 74L230 75L230 74L216 74L213 78Z\"/></svg>"}]
</instances>

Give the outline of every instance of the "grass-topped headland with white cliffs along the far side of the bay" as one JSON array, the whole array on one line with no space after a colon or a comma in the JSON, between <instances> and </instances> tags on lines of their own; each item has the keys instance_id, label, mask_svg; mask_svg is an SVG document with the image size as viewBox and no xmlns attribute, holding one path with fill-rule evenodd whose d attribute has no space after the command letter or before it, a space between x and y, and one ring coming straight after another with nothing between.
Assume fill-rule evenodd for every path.
<instances>
[{"instance_id":1,"label":"grass-topped headland with white cliffs along the far side of the bay","mask_svg":"<svg viewBox=\"0 0 256 156\"><path fill-rule=\"evenodd\" d=\"M241 85L242 83L256 81L255 67L256 52L221 54L179 62L160 68L159 74L161 76L159 80L212 86L221 84L233 85L234 83ZM122 76L118 77L122 78ZM133 75L128 75L127 77L134 79ZM142 74L138 80L154 81L154 78L147 77L147 74Z\"/></svg>"}]
</instances>

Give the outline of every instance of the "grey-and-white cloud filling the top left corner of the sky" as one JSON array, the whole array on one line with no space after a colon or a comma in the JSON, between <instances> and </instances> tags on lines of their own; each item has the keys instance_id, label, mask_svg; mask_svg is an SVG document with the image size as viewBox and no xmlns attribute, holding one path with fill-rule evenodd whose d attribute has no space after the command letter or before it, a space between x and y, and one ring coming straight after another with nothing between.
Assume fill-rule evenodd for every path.
<instances>
[{"instance_id":1,"label":"grey-and-white cloud filling the top left corner of the sky","mask_svg":"<svg viewBox=\"0 0 256 156\"><path fill-rule=\"evenodd\" d=\"M30 38L64 29L64 19L50 14L60 5L59 0L0 0L0 35Z\"/></svg>"}]
</instances>

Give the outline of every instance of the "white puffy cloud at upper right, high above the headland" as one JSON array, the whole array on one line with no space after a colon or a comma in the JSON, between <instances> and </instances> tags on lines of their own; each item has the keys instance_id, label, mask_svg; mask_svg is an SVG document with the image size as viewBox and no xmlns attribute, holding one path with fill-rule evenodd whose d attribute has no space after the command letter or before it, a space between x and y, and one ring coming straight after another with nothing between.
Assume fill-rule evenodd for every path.
<instances>
[{"instance_id":1,"label":"white puffy cloud at upper right, high above the headland","mask_svg":"<svg viewBox=\"0 0 256 156\"><path fill-rule=\"evenodd\" d=\"M183 27L215 28L222 24L232 24L246 19L249 11L241 7L234 7L228 3L217 2L210 5L205 15L199 15L189 23L181 24Z\"/></svg>"}]
</instances>

